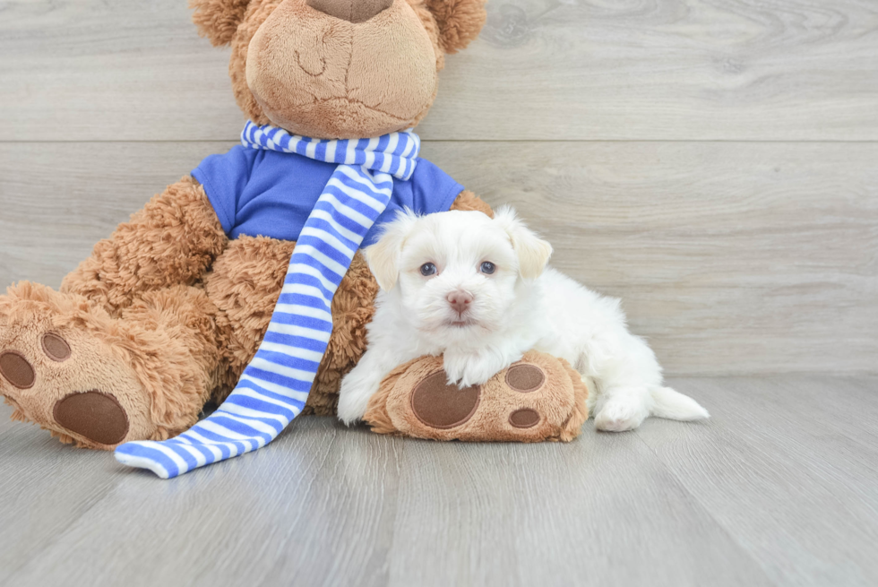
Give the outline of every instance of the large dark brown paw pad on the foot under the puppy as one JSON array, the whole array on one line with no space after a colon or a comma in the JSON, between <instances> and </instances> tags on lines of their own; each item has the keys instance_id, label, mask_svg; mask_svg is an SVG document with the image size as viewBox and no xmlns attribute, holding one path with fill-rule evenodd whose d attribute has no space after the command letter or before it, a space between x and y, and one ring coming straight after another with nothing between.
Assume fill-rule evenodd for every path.
<instances>
[{"instance_id":1,"label":"large dark brown paw pad on the foot under the puppy","mask_svg":"<svg viewBox=\"0 0 878 587\"><path fill-rule=\"evenodd\" d=\"M444 371L427 376L411 393L411 411L424 426L447 430L461 426L478 410L478 385L449 385Z\"/></svg>"}]
</instances>

